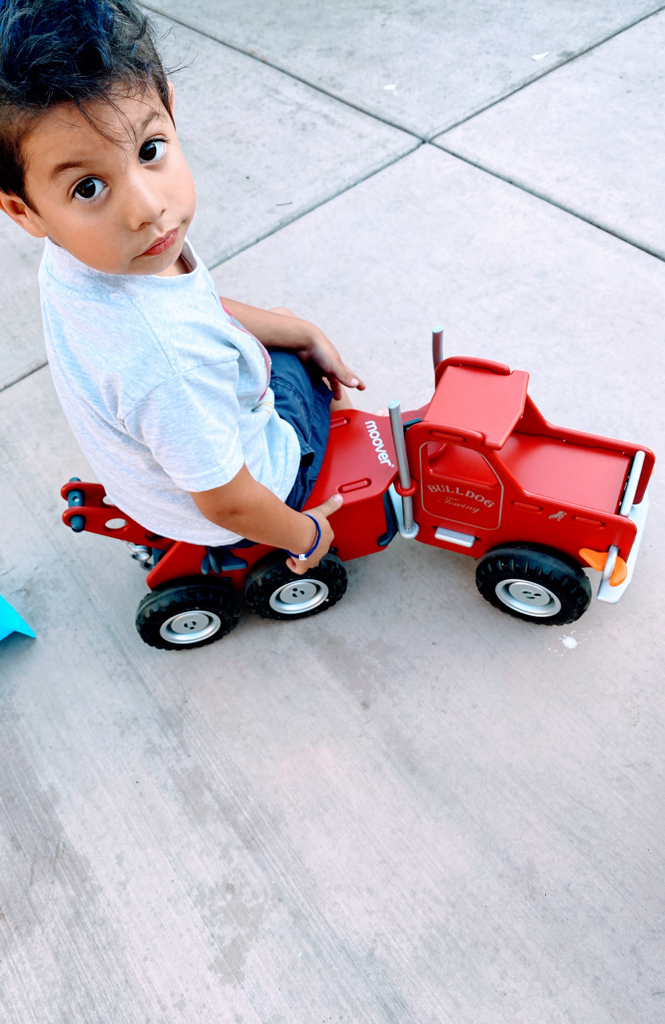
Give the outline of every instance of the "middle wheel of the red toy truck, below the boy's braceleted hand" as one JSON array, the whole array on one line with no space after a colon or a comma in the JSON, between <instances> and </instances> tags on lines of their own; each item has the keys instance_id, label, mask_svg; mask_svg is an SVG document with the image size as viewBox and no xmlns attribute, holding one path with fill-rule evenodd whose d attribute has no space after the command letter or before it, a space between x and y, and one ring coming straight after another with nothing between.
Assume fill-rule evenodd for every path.
<instances>
[{"instance_id":1,"label":"middle wheel of the red toy truck, below the boy's braceleted hand","mask_svg":"<svg viewBox=\"0 0 665 1024\"><path fill-rule=\"evenodd\" d=\"M314 569L296 575L284 551L259 562L245 586L248 605L261 618L305 618L332 608L346 590L344 563L328 552Z\"/></svg>"}]
</instances>

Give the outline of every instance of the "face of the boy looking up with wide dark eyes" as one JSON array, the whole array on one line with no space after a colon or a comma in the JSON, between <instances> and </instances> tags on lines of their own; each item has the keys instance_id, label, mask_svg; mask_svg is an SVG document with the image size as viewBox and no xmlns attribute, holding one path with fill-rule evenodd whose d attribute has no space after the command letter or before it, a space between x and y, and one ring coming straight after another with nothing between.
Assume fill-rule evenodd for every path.
<instances>
[{"instance_id":1,"label":"face of the boy looking up with wide dark eyes","mask_svg":"<svg viewBox=\"0 0 665 1024\"><path fill-rule=\"evenodd\" d=\"M95 270L168 273L194 216L192 174L155 92L114 98L122 116L101 102L91 114L119 144L75 106L55 108L24 142L35 208L3 194L0 204L31 234L48 236Z\"/></svg>"}]
</instances>

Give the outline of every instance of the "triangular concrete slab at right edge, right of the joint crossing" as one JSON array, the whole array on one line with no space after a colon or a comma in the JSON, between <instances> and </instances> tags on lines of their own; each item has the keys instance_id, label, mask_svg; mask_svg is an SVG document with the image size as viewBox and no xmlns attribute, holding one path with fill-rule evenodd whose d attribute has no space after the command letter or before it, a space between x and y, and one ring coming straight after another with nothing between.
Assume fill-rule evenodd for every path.
<instances>
[{"instance_id":1,"label":"triangular concrete slab at right edge, right of the joint crossing","mask_svg":"<svg viewBox=\"0 0 665 1024\"><path fill-rule=\"evenodd\" d=\"M665 14L435 140L665 258Z\"/></svg>"}]
</instances>

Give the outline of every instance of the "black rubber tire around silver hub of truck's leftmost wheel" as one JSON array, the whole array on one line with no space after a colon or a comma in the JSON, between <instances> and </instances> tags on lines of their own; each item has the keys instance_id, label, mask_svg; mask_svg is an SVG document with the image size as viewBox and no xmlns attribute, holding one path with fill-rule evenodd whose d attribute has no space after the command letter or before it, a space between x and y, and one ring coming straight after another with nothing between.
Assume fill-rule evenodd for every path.
<instances>
[{"instance_id":1,"label":"black rubber tire around silver hub of truck's leftmost wheel","mask_svg":"<svg viewBox=\"0 0 665 1024\"><path fill-rule=\"evenodd\" d=\"M188 611L211 611L220 620L220 627L212 636L195 643L170 643L160 634L162 625L171 615ZM236 626L240 618L240 605L236 593L227 581L209 582L202 577L197 580L181 580L168 587L147 594L136 609L136 629L143 643L160 650L192 650L221 640Z\"/></svg>"}]
</instances>

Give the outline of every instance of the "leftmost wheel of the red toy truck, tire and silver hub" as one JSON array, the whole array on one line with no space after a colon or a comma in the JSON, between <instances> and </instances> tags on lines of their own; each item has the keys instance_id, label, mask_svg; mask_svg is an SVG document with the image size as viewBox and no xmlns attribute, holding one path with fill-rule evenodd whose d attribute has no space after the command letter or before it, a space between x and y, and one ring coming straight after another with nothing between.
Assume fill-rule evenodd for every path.
<instances>
[{"instance_id":1,"label":"leftmost wheel of the red toy truck, tire and silver hub","mask_svg":"<svg viewBox=\"0 0 665 1024\"><path fill-rule=\"evenodd\" d=\"M136 610L136 629L151 647L183 650L221 640L239 618L231 584L190 579L147 594Z\"/></svg>"}]
</instances>

